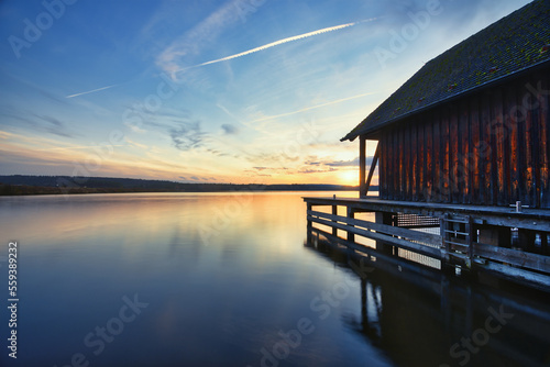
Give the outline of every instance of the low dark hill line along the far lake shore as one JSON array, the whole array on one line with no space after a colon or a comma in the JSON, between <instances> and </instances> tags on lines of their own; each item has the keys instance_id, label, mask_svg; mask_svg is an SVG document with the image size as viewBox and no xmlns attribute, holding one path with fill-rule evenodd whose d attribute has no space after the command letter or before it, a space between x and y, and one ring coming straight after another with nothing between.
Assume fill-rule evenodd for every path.
<instances>
[{"instance_id":1,"label":"low dark hill line along the far lake shore","mask_svg":"<svg viewBox=\"0 0 550 367\"><path fill-rule=\"evenodd\" d=\"M342 185L182 184L112 177L0 176L0 196L107 192L352 191ZM376 190L376 187L372 187Z\"/></svg>"}]
</instances>

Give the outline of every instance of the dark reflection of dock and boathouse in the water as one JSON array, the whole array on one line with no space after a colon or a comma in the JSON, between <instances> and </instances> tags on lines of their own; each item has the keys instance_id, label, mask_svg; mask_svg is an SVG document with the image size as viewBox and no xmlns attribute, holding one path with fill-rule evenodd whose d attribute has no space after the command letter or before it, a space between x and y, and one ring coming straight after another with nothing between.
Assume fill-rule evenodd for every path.
<instances>
[{"instance_id":1,"label":"dark reflection of dock and boathouse in the water","mask_svg":"<svg viewBox=\"0 0 550 367\"><path fill-rule=\"evenodd\" d=\"M472 285L394 256L372 262L349 251L353 245L346 240L318 230L309 240L308 248L361 276L361 313L346 312L342 322L396 365L543 366L550 360L543 293ZM495 312L504 313L501 323Z\"/></svg>"}]
</instances>

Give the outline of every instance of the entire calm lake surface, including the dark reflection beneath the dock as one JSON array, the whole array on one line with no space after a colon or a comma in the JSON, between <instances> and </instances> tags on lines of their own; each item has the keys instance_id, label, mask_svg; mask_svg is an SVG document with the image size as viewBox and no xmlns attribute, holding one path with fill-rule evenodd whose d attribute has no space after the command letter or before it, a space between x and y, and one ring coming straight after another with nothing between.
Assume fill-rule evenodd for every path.
<instances>
[{"instance_id":1,"label":"entire calm lake surface, including the dark reflection beneath the dock","mask_svg":"<svg viewBox=\"0 0 550 367\"><path fill-rule=\"evenodd\" d=\"M304 196L332 192L0 198L1 365L548 366L543 294L362 278L306 243Z\"/></svg>"}]
</instances>

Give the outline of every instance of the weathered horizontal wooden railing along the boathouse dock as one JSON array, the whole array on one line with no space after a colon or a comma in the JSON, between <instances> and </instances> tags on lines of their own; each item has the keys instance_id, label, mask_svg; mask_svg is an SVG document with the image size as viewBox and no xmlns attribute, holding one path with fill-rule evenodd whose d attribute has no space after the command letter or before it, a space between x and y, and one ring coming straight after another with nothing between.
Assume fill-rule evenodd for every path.
<instances>
[{"instance_id":1,"label":"weathered horizontal wooden railing along the boathouse dock","mask_svg":"<svg viewBox=\"0 0 550 367\"><path fill-rule=\"evenodd\" d=\"M548 252L550 213L548 224L539 223L540 229L548 229L549 232L539 232L542 254L536 254L509 245L501 246L494 242L484 243L486 236L481 235L481 231L495 226L484 226L482 224L484 220L476 216L475 208L472 209L472 213L446 212L439 207L431 211L424 208L414 214L410 208L404 208L404 212L395 212L399 210L398 203L388 202L387 207L384 207L380 200L372 208L369 205L369 199L304 198L304 200L307 203L308 235L314 230L321 230L319 229L321 225L329 229L327 233L333 238L338 237L339 231L342 231L344 238L339 238L345 240L344 243L353 251L394 257L400 257L402 253L418 254L439 260L439 269L442 271L457 273L460 268L461 271L474 276L479 273L493 274L499 278L550 291ZM328 210L321 211L319 207ZM339 207L344 207L346 215L338 214ZM374 213L375 220L355 218L358 213L363 212ZM427 213L431 216L427 216ZM420 219L419 224L411 225L415 218ZM510 220L510 223L522 220L518 219L516 222ZM436 226L439 229L433 230ZM422 227L432 230L421 232ZM518 230L503 229L508 233ZM317 231L317 234L319 233L323 232ZM360 237L372 242L369 245L365 241L356 241Z\"/></svg>"}]
</instances>

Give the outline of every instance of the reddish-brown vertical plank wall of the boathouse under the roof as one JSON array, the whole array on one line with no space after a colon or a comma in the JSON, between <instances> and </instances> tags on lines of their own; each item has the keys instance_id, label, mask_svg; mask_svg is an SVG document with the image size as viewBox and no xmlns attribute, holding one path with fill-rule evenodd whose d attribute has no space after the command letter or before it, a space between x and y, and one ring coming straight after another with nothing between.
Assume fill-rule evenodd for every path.
<instances>
[{"instance_id":1,"label":"reddish-brown vertical plank wall of the boathouse under the roof","mask_svg":"<svg viewBox=\"0 0 550 367\"><path fill-rule=\"evenodd\" d=\"M378 131L382 199L550 208L549 69Z\"/></svg>"}]
</instances>

